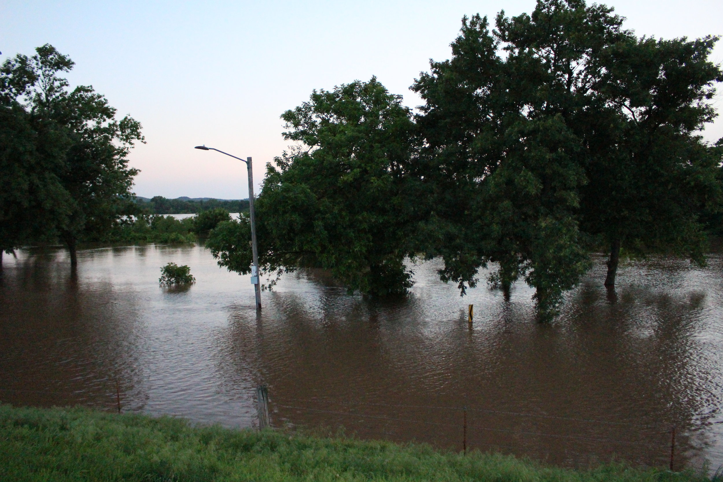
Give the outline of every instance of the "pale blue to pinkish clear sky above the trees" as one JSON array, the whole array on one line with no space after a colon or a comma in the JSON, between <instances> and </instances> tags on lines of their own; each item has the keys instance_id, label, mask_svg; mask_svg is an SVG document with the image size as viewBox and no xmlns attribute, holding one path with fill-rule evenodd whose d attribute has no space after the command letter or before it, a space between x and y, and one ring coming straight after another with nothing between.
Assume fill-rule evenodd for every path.
<instances>
[{"instance_id":1,"label":"pale blue to pinkish clear sky above the trees","mask_svg":"<svg viewBox=\"0 0 723 482\"><path fill-rule=\"evenodd\" d=\"M590 2L591 3L591 2ZM638 35L723 34L723 1L604 2ZM143 125L134 191L153 197L248 196L245 165L205 144L252 156L258 186L281 154L281 113L372 75L406 105L429 59L450 57L464 14L531 12L501 1L14 1L0 2L0 61L51 43L76 63L72 85L93 85ZM714 61L723 61L719 43ZM722 86L723 87L723 86ZM723 90L719 87L719 90ZM723 104L716 98L716 106ZM723 137L723 119L703 135Z\"/></svg>"}]
</instances>

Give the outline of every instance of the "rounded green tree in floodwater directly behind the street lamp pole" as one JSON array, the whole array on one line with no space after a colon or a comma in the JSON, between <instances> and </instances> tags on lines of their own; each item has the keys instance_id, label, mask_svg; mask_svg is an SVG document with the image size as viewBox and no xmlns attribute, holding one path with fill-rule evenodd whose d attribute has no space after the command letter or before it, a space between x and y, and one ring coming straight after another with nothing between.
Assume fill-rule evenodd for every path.
<instances>
[{"instance_id":1,"label":"rounded green tree in floodwater directly behind the street lamp pole","mask_svg":"<svg viewBox=\"0 0 723 482\"><path fill-rule=\"evenodd\" d=\"M256 201L262 270L330 270L349 291L388 295L411 286L424 211L412 162L414 124L401 96L376 78L312 93L283 113L299 144L268 165ZM207 246L219 264L247 273L248 218L220 223Z\"/></svg>"}]
</instances>

